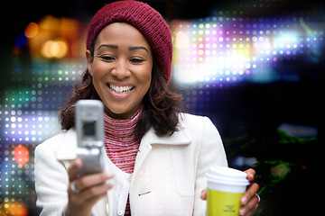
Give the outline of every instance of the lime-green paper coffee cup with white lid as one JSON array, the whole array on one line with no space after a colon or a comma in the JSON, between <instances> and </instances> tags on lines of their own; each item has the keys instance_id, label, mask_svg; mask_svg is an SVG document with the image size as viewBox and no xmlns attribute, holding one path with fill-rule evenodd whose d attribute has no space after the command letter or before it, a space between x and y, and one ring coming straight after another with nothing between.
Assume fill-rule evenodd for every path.
<instances>
[{"instance_id":1,"label":"lime-green paper coffee cup with white lid","mask_svg":"<svg viewBox=\"0 0 325 216\"><path fill-rule=\"evenodd\" d=\"M238 216L240 198L249 181L246 173L228 167L211 167L206 177L207 216Z\"/></svg>"}]
</instances>

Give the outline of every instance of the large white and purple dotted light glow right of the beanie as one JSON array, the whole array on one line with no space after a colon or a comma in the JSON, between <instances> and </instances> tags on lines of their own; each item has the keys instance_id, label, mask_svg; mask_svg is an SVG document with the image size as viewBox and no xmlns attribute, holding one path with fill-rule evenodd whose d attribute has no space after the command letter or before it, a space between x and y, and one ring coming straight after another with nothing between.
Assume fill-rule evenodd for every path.
<instances>
[{"instance_id":1,"label":"large white and purple dotted light glow right of the beanie","mask_svg":"<svg viewBox=\"0 0 325 216\"><path fill-rule=\"evenodd\" d=\"M185 85L282 80L274 71L278 59L309 61L315 54L320 58L324 29L324 23L305 22L303 17L212 16L199 23L176 21L172 23L173 77Z\"/></svg>"}]
</instances>

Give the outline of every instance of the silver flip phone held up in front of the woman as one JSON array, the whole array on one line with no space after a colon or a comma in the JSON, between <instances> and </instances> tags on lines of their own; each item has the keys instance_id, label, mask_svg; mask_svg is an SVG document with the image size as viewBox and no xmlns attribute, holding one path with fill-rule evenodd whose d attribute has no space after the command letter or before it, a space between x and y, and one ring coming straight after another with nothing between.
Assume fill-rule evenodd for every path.
<instances>
[{"instance_id":1,"label":"silver flip phone held up in front of the woman","mask_svg":"<svg viewBox=\"0 0 325 216\"><path fill-rule=\"evenodd\" d=\"M104 170L104 105L98 100L79 100L76 103L77 156L82 158L79 175Z\"/></svg>"}]
</instances>

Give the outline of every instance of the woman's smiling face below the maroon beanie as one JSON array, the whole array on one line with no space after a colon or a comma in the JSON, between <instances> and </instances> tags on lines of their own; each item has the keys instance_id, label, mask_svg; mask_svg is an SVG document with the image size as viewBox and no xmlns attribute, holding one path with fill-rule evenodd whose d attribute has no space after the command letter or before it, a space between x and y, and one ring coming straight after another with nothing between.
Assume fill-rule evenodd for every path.
<instances>
[{"instance_id":1,"label":"woman's smiling face below the maroon beanie","mask_svg":"<svg viewBox=\"0 0 325 216\"><path fill-rule=\"evenodd\" d=\"M94 58L87 50L88 71L109 116L128 119L140 108L153 69L144 35L128 23L112 23L99 32Z\"/></svg>"}]
</instances>

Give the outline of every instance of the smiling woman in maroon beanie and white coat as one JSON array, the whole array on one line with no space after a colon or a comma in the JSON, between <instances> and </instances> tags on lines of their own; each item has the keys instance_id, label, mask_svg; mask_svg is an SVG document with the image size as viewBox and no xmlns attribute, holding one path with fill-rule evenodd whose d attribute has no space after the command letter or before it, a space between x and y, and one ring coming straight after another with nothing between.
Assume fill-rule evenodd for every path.
<instances>
[{"instance_id":1,"label":"smiling woman in maroon beanie and white coat","mask_svg":"<svg viewBox=\"0 0 325 216\"><path fill-rule=\"evenodd\" d=\"M218 130L181 112L172 93L172 37L161 14L136 1L107 4L88 28L88 69L60 111L65 131L35 150L37 204L43 215L204 215L205 173L227 166ZM103 173L79 177L75 103L105 105ZM249 180L255 171L247 170ZM241 215L257 207L258 184Z\"/></svg>"}]
</instances>

